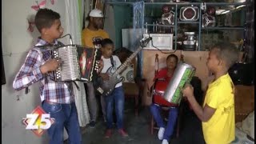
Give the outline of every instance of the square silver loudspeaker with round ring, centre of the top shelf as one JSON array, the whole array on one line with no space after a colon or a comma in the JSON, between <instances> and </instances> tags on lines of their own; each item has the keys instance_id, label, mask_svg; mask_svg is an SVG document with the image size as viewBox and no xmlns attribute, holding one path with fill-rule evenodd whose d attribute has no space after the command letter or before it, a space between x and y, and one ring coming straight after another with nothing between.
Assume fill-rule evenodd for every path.
<instances>
[{"instance_id":1,"label":"square silver loudspeaker with round ring, centre of the top shelf","mask_svg":"<svg viewBox=\"0 0 256 144\"><path fill-rule=\"evenodd\" d=\"M197 6L183 6L179 12L179 19L181 21L197 21L199 18Z\"/></svg>"}]
</instances>

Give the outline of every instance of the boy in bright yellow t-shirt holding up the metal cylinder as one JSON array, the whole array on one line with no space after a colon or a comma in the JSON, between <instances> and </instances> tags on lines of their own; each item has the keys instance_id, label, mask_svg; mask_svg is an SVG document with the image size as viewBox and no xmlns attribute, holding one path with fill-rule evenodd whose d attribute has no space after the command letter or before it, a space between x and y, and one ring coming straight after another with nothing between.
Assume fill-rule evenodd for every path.
<instances>
[{"instance_id":1,"label":"boy in bright yellow t-shirt holding up the metal cylinder","mask_svg":"<svg viewBox=\"0 0 256 144\"><path fill-rule=\"evenodd\" d=\"M214 74L206 91L203 106L194 98L194 89L186 85L182 93L194 113L202 121L202 132L207 144L228 144L234 141L234 84L228 74L238 61L238 50L227 42L220 42L209 53L206 65Z\"/></svg>"}]
</instances>

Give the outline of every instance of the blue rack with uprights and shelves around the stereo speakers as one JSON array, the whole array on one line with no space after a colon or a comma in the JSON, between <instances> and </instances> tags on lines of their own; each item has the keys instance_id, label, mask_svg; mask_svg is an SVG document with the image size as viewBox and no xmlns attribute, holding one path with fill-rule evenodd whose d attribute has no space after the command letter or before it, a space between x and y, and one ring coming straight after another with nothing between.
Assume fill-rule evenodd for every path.
<instances>
[{"instance_id":1,"label":"blue rack with uprights and shelves around the stereo speakers","mask_svg":"<svg viewBox=\"0 0 256 144\"><path fill-rule=\"evenodd\" d=\"M131 6L134 6L134 4L136 3L135 0L122 0L122 2L118 1L118 0L110 0L109 2L107 2L108 4L110 5L131 5ZM246 9L246 6L247 6L247 2L205 2L206 3L206 6L232 6L234 7L237 7L237 6L242 6L242 5L245 5L243 7L243 9ZM180 24L191 24L193 26L197 26L197 30L195 31L195 33L197 34L197 40L198 40L198 51L201 51L202 50L202 33L204 31L210 31L210 30L239 30L239 31L242 31L242 30L245 30L244 27L242 26L214 26L214 27L202 27L202 10L200 9L201 5L202 5L202 2L143 2L145 8L144 8L144 13L145 15L147 14L146 13L146 10L155 10L155 9L151 9L151 7L161 7L163 5L171 5L174 7L174 25L158 25L158 26L163 26L163 27L174 27L174 35L178 35L178 26L181 26ZM179 18L178 18L178 14L179 14L179 8L182 7L182 6L197 6L198 7L198 21L180 21ZM157 9L158 11L161 9ZM240 10L240 9L238 9ZM231 10L232 11L232 10ZM236 11L236 10L233 10L233 11ZM162 13L161 13L162 14ZM160 15L160 13L158 14ZM156 14L154 14L154 16L148 16L146 15L146 17L144 17L144 21L145 22L150 22L151 21L155 21L156 18L161 18L161 15L156 17ZM150 22L151 23L151 22ZM144 26L155 26L153 24L147 24L144 23ZM241 36L242 37L242 36ZM174 38L174 50L177 50L178 46L177 46L177 38Z\"/></svg>"}]
</instances>

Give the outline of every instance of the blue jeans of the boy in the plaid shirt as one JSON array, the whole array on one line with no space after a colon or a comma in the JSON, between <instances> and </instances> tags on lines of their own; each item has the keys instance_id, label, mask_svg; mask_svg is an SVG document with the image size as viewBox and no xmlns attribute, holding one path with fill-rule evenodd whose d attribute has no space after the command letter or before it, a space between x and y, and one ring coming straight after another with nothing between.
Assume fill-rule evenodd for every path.
<instances>
[{"instance_id":1,"label":"blue jeans of the boy in the plaid shirt","mask_svg":"<svg viewBox=\"0 0 256 144\"><path fill-rule=\"evenodd\" d=\"M42 109L50 114L50 118L55 119L54 124L47 130L50 137L50 144L63 143L64 127L69 135L69 144L82 143L78 113L74 102L71 104L49 104L42 102Z\"/></svg>"}]
</instances>

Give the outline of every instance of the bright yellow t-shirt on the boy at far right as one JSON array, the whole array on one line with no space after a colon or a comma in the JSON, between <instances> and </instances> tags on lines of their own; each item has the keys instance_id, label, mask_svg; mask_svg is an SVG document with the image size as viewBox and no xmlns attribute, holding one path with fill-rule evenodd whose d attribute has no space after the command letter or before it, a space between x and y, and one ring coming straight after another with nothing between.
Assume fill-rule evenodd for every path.
<instances>
[{"instance_id":1,"label":"bright yellow t-shirt on the boy at far right","mask_svg":"<svg viewBox=\"0 0 256 144\"><path fill-rule=\"evenodd\" d=\"M203 106L216 109L208 122L202 122L207 144L228 144L234 140L234 84L229 74L210 83Z\"/></svg>"}]
</instances>

